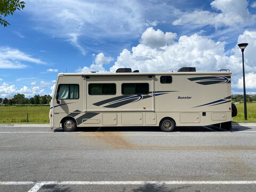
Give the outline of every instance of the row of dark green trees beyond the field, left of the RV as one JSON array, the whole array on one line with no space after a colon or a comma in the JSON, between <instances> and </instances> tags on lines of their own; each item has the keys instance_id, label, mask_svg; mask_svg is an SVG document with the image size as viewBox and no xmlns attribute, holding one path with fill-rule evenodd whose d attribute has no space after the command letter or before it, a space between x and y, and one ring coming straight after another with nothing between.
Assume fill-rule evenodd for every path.
<instances>
[{"instance_id":1,"label":"row of dark green trees beyond the field, left of the RV","mask_svg":"<svg viewBox=\"0 0 256 192\"><path fill-rule=\"evenodd\" d=\"M14 104L45 105L45 104L49 104L51 99L52 97L46 94L43 96L35 95L34 97L31 97L31 98L25 98L24 94L18 93L18 94L15 94L12 99L0 98L0 103L3 103L4 105L14 105Z\"/></svg>"}]
</instances>

